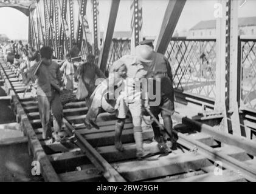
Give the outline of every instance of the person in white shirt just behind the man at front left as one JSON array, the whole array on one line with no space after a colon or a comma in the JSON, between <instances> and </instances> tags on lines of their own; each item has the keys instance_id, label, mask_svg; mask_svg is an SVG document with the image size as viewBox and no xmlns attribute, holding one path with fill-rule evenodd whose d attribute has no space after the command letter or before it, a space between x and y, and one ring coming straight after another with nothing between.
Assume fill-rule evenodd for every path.
<instances>
[{"instance_id":1,"label":"person in white shirt just behind the man at front left","mask_svg":"<svg viewBox=\"0 0 256 194\"><path fill-rule=\"evenodd\" d=\"M67 54L65 62L60 68L61 72L64 72L64 84L66 85L67 90L74 90L74 64L71 62L71 55Z\"/></svg>"}]
</instances>

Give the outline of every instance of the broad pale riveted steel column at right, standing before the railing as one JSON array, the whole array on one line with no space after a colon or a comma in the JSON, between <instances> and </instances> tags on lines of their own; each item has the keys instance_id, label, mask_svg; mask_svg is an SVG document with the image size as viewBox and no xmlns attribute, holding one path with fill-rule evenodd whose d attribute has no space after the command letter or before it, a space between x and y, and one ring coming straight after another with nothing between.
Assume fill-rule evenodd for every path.
<instances>
[{"instance_id":1,"label":"broad pale riveted steel column at right, standing before the railing","mask_svg":"<svg viewBox=\"0 0 256 194\"><path fill-rule=\"evenodd\" d=\"M238 4L220 0L216 19L215 110L223 113L220 129L241 135L237 103ZM225 64L225 65L224 65Z\"/></svg>"}]
</instances>

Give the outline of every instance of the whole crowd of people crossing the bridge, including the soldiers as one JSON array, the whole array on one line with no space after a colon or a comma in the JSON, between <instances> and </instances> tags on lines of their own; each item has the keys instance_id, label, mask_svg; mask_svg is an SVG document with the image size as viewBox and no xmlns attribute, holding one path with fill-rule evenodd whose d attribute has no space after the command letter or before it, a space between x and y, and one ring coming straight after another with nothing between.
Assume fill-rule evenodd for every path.
<instances>
[{"instance_id":1,"label":"whole crowd of people crossing the bridge, including the soldiers","mask_svg":"<svg viewBox=\"0 0 256 194\"><path fill-rule=\"evenodd\" d=\"M124 150L121 136L128 116L133 121L138 158L150 155L143 147L144 116L151 117L154 141L159 150L169 153L171 149L175 149L177 139L172 133L171 121L175 109L171 68L164 55L154 52L151 41L140 42L134 55L122 56L111 65L108 73L99 69L92 54L78 60L80 50L76 44L63 61L54 60L54 50L48 46L35 50L29 44L12 41L2 49L7 62L19 69L26 85L36 82L43 139L66 139L66 133L63 132L61 93L67 90L76 92L77 99L86 101L89 110L85 127L88 130L100 129L97 125L100 113L116 113L115 146L120 152ZM75 82L78 82L76 87ZM164 125L159 122L160 113Z\"/></svg>"}]
</instances>

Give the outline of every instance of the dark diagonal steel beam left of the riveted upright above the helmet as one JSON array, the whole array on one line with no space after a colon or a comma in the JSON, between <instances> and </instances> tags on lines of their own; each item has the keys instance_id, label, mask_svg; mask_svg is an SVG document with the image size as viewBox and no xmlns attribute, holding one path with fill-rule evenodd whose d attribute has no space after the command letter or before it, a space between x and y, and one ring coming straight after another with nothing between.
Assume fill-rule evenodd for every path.
<instances>
[{"instance_id":1,"label":"dark diagonal steel beam left of the riveted upright above the helmet","mask_svg":"<svg viewBox=\"0 0 256 194\"><path fill-rule=\"evenodd\" d=\"M100 58L98 63L98 66L100 67L102 72L105 72L106 70L106 64L108 62L109 50L111 47L114 28L116 25L116 18L117 18L117 12L119 9L119 4L120 4L120 0L112 0L111 2L111 9L110 9L109 18L108 18L108 28L106 30L106 36L104 38L103 48L100 51Z\"/></svg>"}]
</instances>

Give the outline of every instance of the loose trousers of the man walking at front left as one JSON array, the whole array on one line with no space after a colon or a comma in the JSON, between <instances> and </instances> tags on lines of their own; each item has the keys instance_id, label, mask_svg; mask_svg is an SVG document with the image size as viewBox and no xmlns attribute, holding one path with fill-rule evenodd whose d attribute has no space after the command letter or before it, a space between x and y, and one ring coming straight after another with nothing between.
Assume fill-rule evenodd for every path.
<instances>
[{"instance_id":1,"label":"loose trousers of the man walking at front left","mask_svg":"<svg viewBox=\"0 0 256 194\"><path fill-rule=\"evenodd\" d=\"M54 91L52 92L51 97L38 96L38 109L40 113L41 124L43 126L43 139L52 137L50 110L52 110L54 115L54 132L60 132L63 119L63 107L60 101L60 94Z\"/></svg>"}]
</instances>

